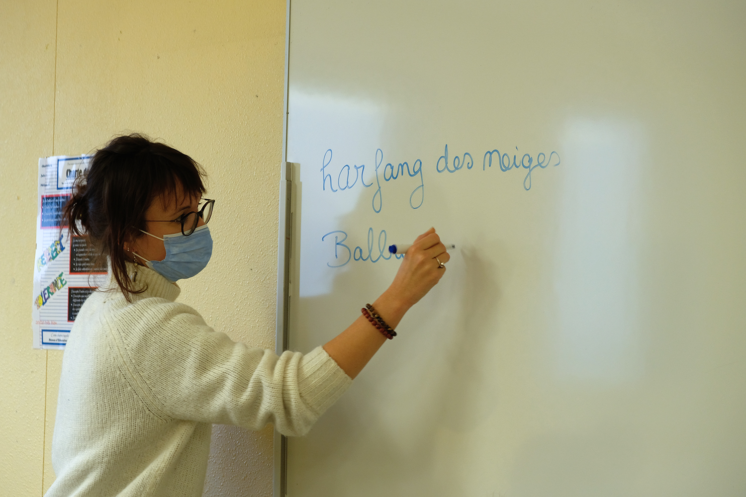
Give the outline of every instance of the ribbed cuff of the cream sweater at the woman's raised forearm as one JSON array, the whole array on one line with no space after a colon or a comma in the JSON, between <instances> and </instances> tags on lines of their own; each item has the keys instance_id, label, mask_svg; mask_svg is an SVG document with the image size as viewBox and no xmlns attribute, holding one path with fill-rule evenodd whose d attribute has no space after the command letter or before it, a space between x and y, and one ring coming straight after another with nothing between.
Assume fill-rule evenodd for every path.
<instances>
[{"instance_id":1,"label":"ribbed cuff of the cream sweater at the woman's raised forearm","mask_svg":"<svg viewBox=\"0 0 746 497\"><path fill-rule=\"evenodd\" d=\"M298 389L301 398L318 416L324 414L351 384L352 379L322 346L301 359Z\"/></svg>"}]
</instances>

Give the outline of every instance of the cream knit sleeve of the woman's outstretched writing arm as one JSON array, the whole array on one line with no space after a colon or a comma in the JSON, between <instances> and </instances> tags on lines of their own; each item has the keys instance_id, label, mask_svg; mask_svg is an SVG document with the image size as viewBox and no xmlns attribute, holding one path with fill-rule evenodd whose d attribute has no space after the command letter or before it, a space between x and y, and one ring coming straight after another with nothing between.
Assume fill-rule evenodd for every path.
<instances>
[{"instance_id":1,"label":"cream knit sleeve of the woman's outstretched writing arm","mask_svg":"<svg viewBox=\"0 0 746 497\"><path fill-rule=\"evenodd\" d=\"M303 435L352 382L320 346L251 348L179 303L141 300L108 325L128 381L159 417Z\"/></svg>"}]
</instances>

